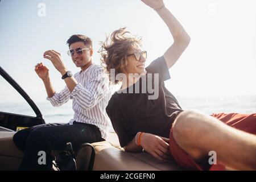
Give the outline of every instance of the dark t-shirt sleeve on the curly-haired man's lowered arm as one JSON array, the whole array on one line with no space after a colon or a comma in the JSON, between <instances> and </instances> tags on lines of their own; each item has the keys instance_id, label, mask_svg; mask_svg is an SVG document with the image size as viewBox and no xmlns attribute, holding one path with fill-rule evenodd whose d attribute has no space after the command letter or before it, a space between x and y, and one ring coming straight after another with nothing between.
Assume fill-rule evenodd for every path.
<instances>
[{"instance_id":1,"label":"dark t-shirt sleeve on the curly-haired man's lowered arm","mask_svg":"<svg viewBox=\"0 0 256 182\"><path fill-rule=\"evenodd\" d=\"M118 109L118 105L115 104L113 98L110 99L109 104L106 107L106 113L112 122L115 133L117 133L120 146L127 146L127 144L133 140L134 136L129 133L129 128L124 125L124 123L126 123L124 120L125 118L122 117L122 114Z\"/></svg>"}]
</instances>

